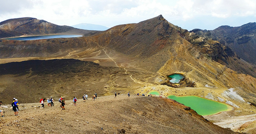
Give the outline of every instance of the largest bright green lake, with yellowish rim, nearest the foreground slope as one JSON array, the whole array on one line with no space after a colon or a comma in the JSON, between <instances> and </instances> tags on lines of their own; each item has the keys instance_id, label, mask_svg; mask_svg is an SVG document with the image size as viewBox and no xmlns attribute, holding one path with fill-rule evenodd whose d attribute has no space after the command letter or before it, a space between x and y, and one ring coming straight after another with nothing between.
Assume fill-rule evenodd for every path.
<instances>
[{"instance_id":1,"label":"largest bright green lake, with yellowish rim, nearest the foreground slope","mask_svg":"<svg viewBox=\"0 0 256 134\"><path fill-rule=\"evenodd\" d=\"M198 96L175 96L169 95L167 96L170 99L174 99L185 106L191 107L191 109L195 110L199 115L212 115L217 114L223 111L231 111L233 110L232 106L229 106L224 103L220 103L218 101L205 99Z\"/></svg>"}]
</instances>

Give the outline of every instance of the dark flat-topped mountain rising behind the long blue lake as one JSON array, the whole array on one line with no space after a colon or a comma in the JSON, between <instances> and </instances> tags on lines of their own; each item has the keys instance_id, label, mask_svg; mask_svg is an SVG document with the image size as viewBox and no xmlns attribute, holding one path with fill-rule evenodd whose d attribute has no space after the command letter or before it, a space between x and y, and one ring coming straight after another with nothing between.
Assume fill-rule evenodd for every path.
<instances>
[{"instance_id":1,"label":"dark flat-topped mountain rising behind the long blue lake","mask_svg":"<svg viewBox=\"0 0 256 134\"><path fill-rule=\"evenodd\" d=\"M97 31L77 29L69 26L59 26L36 18L16 18L0 22L0 38L22 35L47 34L81 34L88 35Z\"/></svg>"}]
</instances>

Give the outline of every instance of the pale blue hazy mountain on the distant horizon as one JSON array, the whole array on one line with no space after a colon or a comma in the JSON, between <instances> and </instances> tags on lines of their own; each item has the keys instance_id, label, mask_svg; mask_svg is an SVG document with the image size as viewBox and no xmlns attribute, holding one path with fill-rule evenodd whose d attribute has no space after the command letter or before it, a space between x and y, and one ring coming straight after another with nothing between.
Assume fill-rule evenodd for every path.
<instances>
[{"instance_id":1,"label":"pale blue hazy mountain on the distant horizon","mask_svg":"<svg viewBox=\"0 0 256 134\"><path fill-rule=\"evenodd\" d=\"M85 29L85 30L97 30L97 31L105 31L109 29L108 27L105 27L105 26L95 25L90 23L80 23L80 24L73 25L71 27Z\"/></svg>"}]
</instances>

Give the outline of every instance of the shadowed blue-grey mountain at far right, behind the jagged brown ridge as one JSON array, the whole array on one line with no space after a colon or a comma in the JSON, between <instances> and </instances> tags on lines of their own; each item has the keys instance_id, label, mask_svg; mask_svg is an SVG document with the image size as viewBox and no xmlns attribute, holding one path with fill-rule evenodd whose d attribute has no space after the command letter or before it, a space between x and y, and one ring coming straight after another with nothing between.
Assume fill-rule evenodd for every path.
<instances>
[{"instance_id":1,"label":"shadowed blue-grey mountain at far right, behind the jagged brown ridge","mask_svg":"<svg viewBox=\"0 0 256 134\"><path fill-rule=\"evenodd\" d=\"M240 58L256 64L256 22L240 27L220 26L214 30L194 29L190 32L195 31L204 32L212 40L230 47Z\"/></svg>"}]
</instances>

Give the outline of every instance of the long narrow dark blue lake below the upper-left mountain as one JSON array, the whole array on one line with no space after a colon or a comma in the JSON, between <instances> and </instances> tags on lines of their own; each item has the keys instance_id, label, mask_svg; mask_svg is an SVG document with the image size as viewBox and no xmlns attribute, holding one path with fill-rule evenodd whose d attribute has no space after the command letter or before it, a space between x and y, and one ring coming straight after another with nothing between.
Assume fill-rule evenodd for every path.
<instances>
[{"instance_id":1,"label":"long narrow dark blue lake below the upper-left mountain","mask_svg":"<svg viewBox=\"0 0 256 134\"><path fill-rule=\"evenodd\" d=\"M27 36L27 37L14 37L6 38L6 40L40 40L40 39L51 39L51 38L72 38L81 37L82 35L38 35L38 36Z\"/></svg>"}]
</instances>

